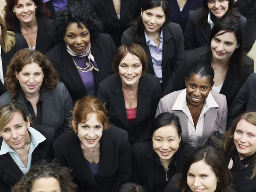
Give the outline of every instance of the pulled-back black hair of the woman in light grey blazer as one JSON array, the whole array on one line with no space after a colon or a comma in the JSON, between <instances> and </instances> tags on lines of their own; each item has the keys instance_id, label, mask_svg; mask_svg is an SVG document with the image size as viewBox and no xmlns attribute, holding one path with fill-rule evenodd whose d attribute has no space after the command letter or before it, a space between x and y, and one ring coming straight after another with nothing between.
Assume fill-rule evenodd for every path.
<instances>
[{"instance_id":1,"label":"pulled-back black hair of the woman in light grey blazer","mask_svg":"<svg viewBox=\"0 0 256 192\"><path fill-rule=\"evenodd\" d=\"M199 75L201 77L209 77L210 84L213 84L213 78L214 78L214 70L211 67L211 64L209 64L206 61L197 61L194 64L192 64L189 68L188 73L186 74L186 81L191 77L191 75Z\"/></svg>"}]
</instances>

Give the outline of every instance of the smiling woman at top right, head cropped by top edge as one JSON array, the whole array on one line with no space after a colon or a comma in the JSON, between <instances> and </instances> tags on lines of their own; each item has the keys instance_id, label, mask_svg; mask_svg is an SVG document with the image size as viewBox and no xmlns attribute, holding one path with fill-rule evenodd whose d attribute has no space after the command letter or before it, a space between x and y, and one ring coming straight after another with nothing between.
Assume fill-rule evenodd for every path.
<instances>
[{"instance_id":1,"label":"smiling woman at top right, head cropped by top edge","mask_svg":"<svg viewBox=\"0 0 256 192\"><path fill-rule=\"evenodd\" d=\"M212 27L224 18L237 20L244 31L246 18L235 11L234 2L235 0L203 0L202 9L190 11L184 33L185 50L205 46Z\"/></svg>"}]
</instances>

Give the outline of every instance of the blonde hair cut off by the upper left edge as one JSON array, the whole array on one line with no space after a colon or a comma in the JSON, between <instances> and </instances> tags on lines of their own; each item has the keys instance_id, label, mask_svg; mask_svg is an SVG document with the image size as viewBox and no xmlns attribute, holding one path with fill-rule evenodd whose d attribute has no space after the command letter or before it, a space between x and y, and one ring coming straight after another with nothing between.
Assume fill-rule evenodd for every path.
<instances>
[{"instance_id":1,"label":"blonde hair cut off by the upper left edge","mask_svg":"<svg viewBox=\"0 0 256 192\"><path fill-rule=\"evenodd\" d=\"M7 31L6 23L3 18L0 16L0 26L2 30L2 38L0 39L0 45L4 52L9 52L12 47L15 46L16 39L15 33L12 31Z\"/></svg>"}]
</instances>

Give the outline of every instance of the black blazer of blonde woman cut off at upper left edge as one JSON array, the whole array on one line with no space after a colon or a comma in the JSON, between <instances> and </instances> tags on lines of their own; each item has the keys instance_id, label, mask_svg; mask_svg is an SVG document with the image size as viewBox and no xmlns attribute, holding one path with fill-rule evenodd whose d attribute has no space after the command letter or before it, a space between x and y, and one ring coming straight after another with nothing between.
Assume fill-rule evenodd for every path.
<instances>
[{"instance_id":1,"label":"black blazer of blonde woman cut off at upper left edge","mask_svg":"<svg viewBox=\"0 0 256 192\"><path fill-rule=\"evenodd\" d=\"M9 52L4 52L1 47L1 58L2 58L2 65L3 65L3 76L5 77L7 66L9 65L9 62L11 61L11 58L15 53L20 50L28 47L28 44L26 42L26 39L23 37L23 35L15 33L15 46L12 47L12 49ZM6 92L6 89L0 81L0 96Z\"/></svg>"}]
</instances>

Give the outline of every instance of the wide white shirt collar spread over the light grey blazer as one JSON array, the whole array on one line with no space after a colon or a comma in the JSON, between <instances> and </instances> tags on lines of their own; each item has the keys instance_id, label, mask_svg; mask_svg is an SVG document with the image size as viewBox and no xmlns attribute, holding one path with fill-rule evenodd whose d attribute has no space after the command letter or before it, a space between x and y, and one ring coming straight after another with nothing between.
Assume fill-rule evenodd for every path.
<instances>
[{"instance_id":1,"label":"wide white shirt collar spread over the light grey blazer","mask_svg":"<svg viewBox=\"0 0 256 192\"><path fill-rule=\"evenodd\" d=\"M218 108L218 103L215 101L213 98L211 92L209 93L208 97L205 99L204 102L204 107L205 108ZM172 110L181 110L185 111L187 108L187 103L186 103L186 89L183 89L183 91L179 94L177 97Z\"/></svg>"}]
</instances>

